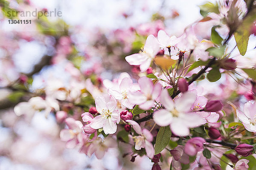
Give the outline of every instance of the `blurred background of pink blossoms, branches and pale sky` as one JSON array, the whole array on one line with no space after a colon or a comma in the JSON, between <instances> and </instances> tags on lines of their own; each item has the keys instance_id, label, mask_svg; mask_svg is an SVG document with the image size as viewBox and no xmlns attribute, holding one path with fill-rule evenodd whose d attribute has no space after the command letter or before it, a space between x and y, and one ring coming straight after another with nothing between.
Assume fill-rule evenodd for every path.
<instances>
[{"instance_id":1,"label":"blurred background of pink blossoms, branches and pale sky","mask_svg":"<svg viewBox=\"0 0 256 170\"><path fill-rule=\"evenodd\" d=\"M145 38L156 36L160 29L180 36L187 26L202 18L198 6L204 2L0 0L0 170L151 169L148 158L131 163L116 148L109 149L101 160L66 149L59 139L64 125L54 113L41 111L18 117L13 107L31 96L42 95L43 90L51 91L58 83L69 89L86 88L89 84L78 83L80 75L100 85L102 79L116 78L120 72L136 73L138 68L131 68L124 57L140 51ZM32 20L31 24L8 23L8 11L35 9L61 11L62 16L39 20L24 17ZM210 31L198 28L202 34ZM249 43L248 49L253 45Z\"/></svg>"}]
</instances>

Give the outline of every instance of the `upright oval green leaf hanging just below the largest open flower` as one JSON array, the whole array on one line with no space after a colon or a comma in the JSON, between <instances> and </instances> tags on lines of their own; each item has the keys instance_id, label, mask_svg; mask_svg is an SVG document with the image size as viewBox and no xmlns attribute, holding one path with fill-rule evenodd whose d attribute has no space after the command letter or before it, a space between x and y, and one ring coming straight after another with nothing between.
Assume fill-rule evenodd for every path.
<instances>
[{"instance_id":1,"label":"upright oval green leaf hanging just below the largest open flower","mask_svg":"<svg viewBox=\"0 0 256 170\"><path fill-rule=\"evenodd\" d=\"M155 155L160 153L169 144L172 136L172 131L169 126L160 127L157 133L156 145L155 145Z\"/></svg>"}]
</instances>

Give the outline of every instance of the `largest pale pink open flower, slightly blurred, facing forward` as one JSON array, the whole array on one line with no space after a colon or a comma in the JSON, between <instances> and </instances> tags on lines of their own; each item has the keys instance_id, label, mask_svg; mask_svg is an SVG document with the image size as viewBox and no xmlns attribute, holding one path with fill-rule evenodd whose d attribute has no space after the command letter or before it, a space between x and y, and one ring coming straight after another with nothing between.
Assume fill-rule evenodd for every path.
<instances>
[{"instance_id":1,"label":"largest pale pink open flower, slightly blurred, facing forward","mask_svg":"<svg viewBox=\"0 0 256 170\"><path fill-rule=\"evenodd\" d=\"M196 113L191 113L191 106L195 102L196 95L193 92L186 92L175 102L170 98L165 89L161 93L160 101L165 109L154 112L153 119L160 126L170 125L172 132L178 136L189 135L189 127L203 125L205 120Z\"/></svg>"}]
</instances>

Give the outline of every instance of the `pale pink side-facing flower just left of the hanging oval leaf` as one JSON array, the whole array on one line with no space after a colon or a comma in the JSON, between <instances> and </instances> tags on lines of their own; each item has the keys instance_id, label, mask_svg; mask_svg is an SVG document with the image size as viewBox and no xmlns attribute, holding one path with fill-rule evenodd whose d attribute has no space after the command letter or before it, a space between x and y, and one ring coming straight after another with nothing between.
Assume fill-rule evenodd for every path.
<instances>
[{"instance_id":1,"label":"pale pink side-facing flower just left of the hanging oval leaf","mask_svg":"<svg viewBox=\"0 0 256 170\"><path fill-rule=\"evenodd\" d=\"M141 148L145 148L148 158L153 158L154 156L154 146L151 143L153 141L153 136L147 129L141 129L140 125L133 120L126 120L126 122L130 123L140 136L133 136L135 142L135 149L140 150Z\"/></svg>"}]
</instances>

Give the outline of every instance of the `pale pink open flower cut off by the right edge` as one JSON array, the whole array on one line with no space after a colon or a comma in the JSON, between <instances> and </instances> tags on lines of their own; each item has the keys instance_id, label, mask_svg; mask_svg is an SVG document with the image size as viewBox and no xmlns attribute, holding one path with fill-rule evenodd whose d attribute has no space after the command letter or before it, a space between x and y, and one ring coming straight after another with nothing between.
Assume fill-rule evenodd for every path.
<instances>
[{"instance_id":1,"label":"pale pink open flower cut off by the right edge","mask_svg":"<svg viewBox=\"0 0 256 170\"><path fill-rule=\"evenodd\" d=\"M236 110L236 115L246 130L256 132L256 102L249 101L244 104L244 112Z\"/></svg>"}]
</instances>

